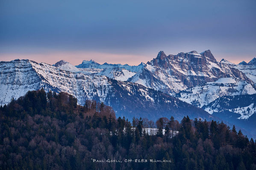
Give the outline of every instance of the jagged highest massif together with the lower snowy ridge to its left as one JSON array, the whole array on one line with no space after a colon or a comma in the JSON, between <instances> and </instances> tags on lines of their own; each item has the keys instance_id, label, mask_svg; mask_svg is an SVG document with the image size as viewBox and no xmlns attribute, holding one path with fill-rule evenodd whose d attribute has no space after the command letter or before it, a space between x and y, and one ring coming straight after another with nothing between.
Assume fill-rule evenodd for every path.
<instances>
[{"instance_id":1,"label":"jagged highest massif together with the lower snowy ridge to its left","mask_svg":"<svg viewBox=\"0 0 256 170\"><path fill-rule=\"evenodd\" d=\"M141 62L138 66L108 63L100 65L92 60L84 60L76 67L89 74L135 82L170 95L220 78L234 77L253 84L246 71L243 72L224 59L217 62L210 50L168 56L160 51L155 59L147 64Z\"/></svg>"}]
</instances>

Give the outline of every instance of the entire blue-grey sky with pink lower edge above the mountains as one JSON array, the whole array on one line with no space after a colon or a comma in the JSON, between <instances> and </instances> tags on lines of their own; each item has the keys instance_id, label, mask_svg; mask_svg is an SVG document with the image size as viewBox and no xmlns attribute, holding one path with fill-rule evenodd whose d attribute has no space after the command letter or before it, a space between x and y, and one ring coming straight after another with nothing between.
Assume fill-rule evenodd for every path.
<instances>
[{"instance_id":1,"label":"entire blue-grey sky with pink lower edge above the mountains","mask_svg":"<svg viewBox=\"0 0 256 170\"><path fill-rule=\"evenodd\" d=\"M0 61L138 65L210 49L256 57L255 0L0 0Z\"/></svg>"}]
</instances>

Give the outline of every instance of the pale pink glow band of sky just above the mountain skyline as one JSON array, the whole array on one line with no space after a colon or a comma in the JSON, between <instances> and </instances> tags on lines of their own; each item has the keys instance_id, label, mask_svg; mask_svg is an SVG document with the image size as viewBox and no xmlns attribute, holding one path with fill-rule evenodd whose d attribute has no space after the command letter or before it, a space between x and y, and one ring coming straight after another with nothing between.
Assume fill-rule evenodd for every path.
<instances>
[{"instance_id":1,"label":"pale pink glow band of sky just above the mountain skyline","mask_svg":"<svg viewBox=\"0 0 256 170\"><path fill-rule=\"evenodd\" d=\"M168 55L168 54L167 54ZM217 61L221 61L221 59L226 59L230 62L238 64L239 62L245 61L250 62L253 57L250 56L222 56L221 54L213 54L216 56ZM79 65L83 60L94 60L100 64L104 62L110 64L128 64L128 65L139 65L141 62L147 63L148 61L156 58L156 54L151 55L134 55L134 54L111 54L111 53L102 53L102 52L94 52L94 51L56 51L56 52L47 52L47 53L8 53L8 54L0 54L0 61L11 61L14 59L29 59L35 62L45 62L47 64L55 64L60 60L65 60L72 65ZM250 58L250 59L248 59Z\"/></svg>"}]
</instances>

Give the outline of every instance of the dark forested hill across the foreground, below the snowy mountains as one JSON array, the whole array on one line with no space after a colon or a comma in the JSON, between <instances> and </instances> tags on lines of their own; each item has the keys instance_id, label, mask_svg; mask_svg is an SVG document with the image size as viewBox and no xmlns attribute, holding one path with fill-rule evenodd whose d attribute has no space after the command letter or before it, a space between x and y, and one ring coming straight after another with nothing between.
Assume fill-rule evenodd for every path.
<instances>
[{"instance_id":1,"label":"dark forested hill across the foreground, below the snowy mountains","mask_svg":"<svg viewBox=\"0 0 256 170\"><path fill-rule=\"evenodd\" d=\"M156 127L157 133L149 135L144 127ZM134 118L131 123L116 119L103 103L79 106L69 94L41 89L0 107L0 170L12 169L254 170L256 144L222 122L187 116L180 123L174 117L157 122Z\"/></svg>"}]
</instances>

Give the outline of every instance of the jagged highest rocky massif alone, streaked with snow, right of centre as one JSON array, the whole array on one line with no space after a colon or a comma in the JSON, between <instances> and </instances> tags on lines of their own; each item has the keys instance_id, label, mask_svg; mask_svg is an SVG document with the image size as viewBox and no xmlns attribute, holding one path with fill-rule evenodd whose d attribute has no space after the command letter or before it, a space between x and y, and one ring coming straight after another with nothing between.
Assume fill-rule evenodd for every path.
<instances>
[{"instance_id":1,"label":"jagged highest rocky massif alone, streaked with snow, right of centre","mask_svg":"<svg viewBox=\"0 0 256 170\"><path fill-rule=\"evenodd\" d=\"M200 54L197 51L191 51L168 56L160 51L155 59L147 62L144 68L128 81L173 95L186 88L215 82L225 77L237 77L253 83L238 69L229 64L217 62L210 50Z\"/></svg>"}]
</instances>

